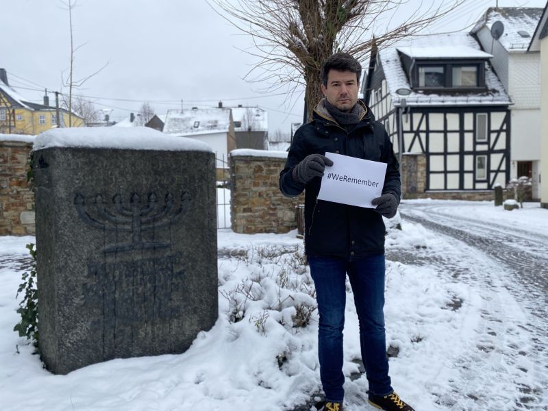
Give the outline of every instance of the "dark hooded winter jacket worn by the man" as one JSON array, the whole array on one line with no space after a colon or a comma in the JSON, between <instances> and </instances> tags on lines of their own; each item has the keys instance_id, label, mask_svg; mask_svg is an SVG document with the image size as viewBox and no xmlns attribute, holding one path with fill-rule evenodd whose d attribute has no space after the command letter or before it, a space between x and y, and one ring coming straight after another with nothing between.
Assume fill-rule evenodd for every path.
<instances>
[{"instance_id":1,"label":"dark hooded winter jacket worn by the man","mask_svg":"<svg viewBox=\"0 0 548 411\"><path fill-rule=\"evenodd\" d=\"M347 127L348 130L336 123L322 103L316 106L314 120L295 132L286 166L279 175L279 188L287 197L296 197L306 189L305 249L308 256L360 258L384 253L385 227L379 213L372 208L318 200L321 177L314 177L306 185L295 182L292 177L295 166L314 153L339 153L385 162L388 166L382 192L392 192L399 200L399 164L392 142L369 108L362 101L358 104L363 105L365 112L360 123Z\"/></svg>"}]
</instances>

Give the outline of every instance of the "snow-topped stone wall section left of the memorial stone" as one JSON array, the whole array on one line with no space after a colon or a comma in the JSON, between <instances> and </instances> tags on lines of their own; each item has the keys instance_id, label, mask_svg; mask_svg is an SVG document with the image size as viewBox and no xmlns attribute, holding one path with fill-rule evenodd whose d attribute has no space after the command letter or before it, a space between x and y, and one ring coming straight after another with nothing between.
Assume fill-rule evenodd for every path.
<instances>
[{"instance_id":1,"label":"snow-topped stone wall section left of the memorial stone","mask_svg":"<svg viewBox=\"0 0 548 411\"><path fill-rule=\"evenodd\" d=\"M35 232L34 195L27 184L30 139L0 135L0 236Z\"/></svg>"}]
</instances>

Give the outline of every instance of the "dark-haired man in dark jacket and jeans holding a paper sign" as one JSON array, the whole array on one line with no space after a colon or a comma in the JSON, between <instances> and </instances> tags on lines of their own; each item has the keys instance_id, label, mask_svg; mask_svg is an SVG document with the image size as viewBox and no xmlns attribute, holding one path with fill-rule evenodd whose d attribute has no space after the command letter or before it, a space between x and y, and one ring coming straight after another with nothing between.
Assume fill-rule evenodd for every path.
<instances>
[{"instance_id":1,"label":"dark-haired man in dark jacket and jeans holding a paper sign","mask_svg":"<svg viewBox=\"0 0 548 411\"><path fill-rule=\"evenodd\" d=\"M399 164L382 124L358 101L360 64L336 53L322 67L325 96L314 120L293 138L279 176L284 195L305 192L305 249L318 302L320 377L326 411L343 409L343 327L345 280L348 275L360 322L362 360L369 382L369 402L382 410L413 411L390 385L384 330L384 223L399 204ZM376 208L360 208L318 200L321 177L332 160L325 153L387 163L382 196ZM359 192L356 192L359 195Z\"/></svg>"}]
</instances>

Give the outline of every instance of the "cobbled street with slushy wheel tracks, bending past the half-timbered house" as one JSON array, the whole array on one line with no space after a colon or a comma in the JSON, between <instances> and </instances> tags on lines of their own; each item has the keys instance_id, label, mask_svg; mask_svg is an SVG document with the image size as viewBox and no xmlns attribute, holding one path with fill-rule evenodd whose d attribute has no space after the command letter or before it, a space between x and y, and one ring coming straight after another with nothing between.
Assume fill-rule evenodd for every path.
<instances>
[{"instance_id":1,"label":"cobbled street with slushy wheel tracks, bending past the half-timbered house","mask_svg":"<svg viewBox=\"0 0 548 411\"><path fill-rule=\"evenodd\" d=\"M403 224L423 225L443 236L450 249L441 253L393 250L388 251L387 258L434 266L440 273L450 274L453 281L473 285L486 301L482 310L484 331L476 336L477 348L486 356L470 353L455 359L462 381L482 385L485 382L478 375L491 375L494 381L506 383L508 391L515 391L513 397L508 392L490 393L490 401L469 395L477 401L476 406L459 399L466 393L452 393L454 402L444 403L440 396L440 405L451 410L480 410L484 403L490 410L488 404L499 395L499 403L509 396L514 401L514 407L503 409L548 410L548 236L492 221L456 217L449 206L439 203L402 203L400 213ZM501 289L519 303L525 321L516 321L505 301L497 297ZM521 366L524 359L533 365ZM493 360L503 365L497 369ZM490 368L487 374L486 368ZM519 378L521 372L523 379Z\"/></svg>"}]
</instances>

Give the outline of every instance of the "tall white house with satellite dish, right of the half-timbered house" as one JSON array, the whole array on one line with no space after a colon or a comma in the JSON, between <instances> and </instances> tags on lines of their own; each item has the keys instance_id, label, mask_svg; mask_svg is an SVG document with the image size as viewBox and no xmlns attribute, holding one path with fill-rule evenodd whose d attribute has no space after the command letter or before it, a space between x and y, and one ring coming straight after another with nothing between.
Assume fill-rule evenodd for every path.
<instances>
[{"instance_id":1,"label":"tall white house with satellite dish, right of the half-timbered house","mask_svg":"<svg viewBox=\"0 0 548 411\"><path fill-rule=\"evenodd\" d=\"M493 69L513 103L510 177L531 177L534 199L540 197L540 49L530 45L542 13L542 8L489 8L471 32L493 54Z\"/></svg>"}]
</instances>

